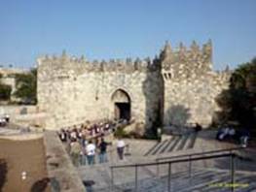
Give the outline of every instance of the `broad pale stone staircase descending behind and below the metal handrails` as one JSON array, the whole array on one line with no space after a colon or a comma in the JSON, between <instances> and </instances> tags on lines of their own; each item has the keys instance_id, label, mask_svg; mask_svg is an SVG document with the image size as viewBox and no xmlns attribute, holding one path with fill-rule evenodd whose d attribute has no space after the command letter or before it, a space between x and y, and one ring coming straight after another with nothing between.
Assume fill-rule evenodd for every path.
<instances>
[{"instance_id":1,"label":"broad pale stone staircase descending behind and below the metal handrails","mask_svg":"<svg viewBox=\"0 0 256 192\"><path fill-rule=\"evenodd\" d=\"M163 142L152 142L144 140L126 140L129 144L129 155L125 156L124 161L118 160L115 145L109 148L109 162L96 164L93 166L79 167L77 170L82 180L93 183L87 191L135 191L135 168L118 168L114 170L114 187L111 186L111 169L115 165L152 163L159 157L176 156L190 154L206 150L217 150L220 148L234 147L232 144L223 144L215 140L201 138L197 133L190 133L183 136L171 136ZM248 151L248 156L255 151ZM256 153L255 153L256 154ZM255 155L256 156L256 155ZM256 158L239 159L236 172L236 183L243 184L238 186L236 191L256 191L256 173L240 172L256 171ZM229 171L230 159L202 160L193 162L192 176L189 177L189 163L178 163L171 168L171 191L231 191L224 185L230 182ZM209 169L210 168L210 169ZM168 166L145 166L139 167L137 191L163 192L167 191ZM221 186L222 185L222 186ZM244 187L246 185L246 187Z\"/></svg>"}]
</instances>

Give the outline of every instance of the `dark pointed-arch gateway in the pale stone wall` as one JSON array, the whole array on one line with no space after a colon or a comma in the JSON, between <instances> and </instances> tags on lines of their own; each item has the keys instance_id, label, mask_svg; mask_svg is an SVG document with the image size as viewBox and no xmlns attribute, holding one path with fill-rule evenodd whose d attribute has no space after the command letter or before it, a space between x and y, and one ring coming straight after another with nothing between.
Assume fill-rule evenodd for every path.
<instances>
[{"instance_id":1,"label":"dark pointed-arch gateway in the pale stone wall","mask_svg":"<svg viewBox=\"0 0 256 192\"><path fill-rule=\"evenodd\" d=\"M125 90L116 90L111 101L114 105L114 116L116 119L127 119L130 118L130 98Z\"/></svg>"}]
</instances>

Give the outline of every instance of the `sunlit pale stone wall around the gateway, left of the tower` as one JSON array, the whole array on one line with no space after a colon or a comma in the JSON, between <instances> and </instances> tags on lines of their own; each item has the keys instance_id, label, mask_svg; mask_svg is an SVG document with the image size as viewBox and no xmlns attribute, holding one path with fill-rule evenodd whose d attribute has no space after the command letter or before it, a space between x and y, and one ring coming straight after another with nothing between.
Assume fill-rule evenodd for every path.
<instances>
[{"instance_id":1,"label":"sunlit pale stone wall around the gateway, left of the tower","mask_svg":"<svg viewBox=\"0 0 256 192\"><path fill-rule=\"evenodd\" d=\"M152 98L152 105L159 97L159 87L154 82L159 73L154 67L146 60L91 63L83 57L70 58L65 53L60 58L39 59L39 109L51 114L49 128L78 124L86 119L113 119L113 95L125 92L130 100L131 118L144 121L146 90L143 87L153 86L155 92L147 95Z\"/></svg>"}]
</instances>

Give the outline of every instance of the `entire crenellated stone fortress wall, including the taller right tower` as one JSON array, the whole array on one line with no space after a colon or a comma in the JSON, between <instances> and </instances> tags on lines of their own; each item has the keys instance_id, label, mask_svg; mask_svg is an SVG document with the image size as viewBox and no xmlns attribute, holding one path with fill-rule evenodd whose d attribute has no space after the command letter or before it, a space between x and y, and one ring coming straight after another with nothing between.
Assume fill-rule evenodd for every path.
<instances>
[{"instance_id":1,"label":"entire crenellated stone fortress wall, including the taller right tower","mask_svg":"<svg viewBox=\"0 0 256 192\"><path fill-rule=\"evenodd\" d=\"M38 59L38 107L50 116L48 129L113 119L119 103L128 103L130 118L146 129L157 121L209 124L229 79L211 70L211 49L210 42L175 51L166 44L154 60L108 62L46 55Z\"/></svg>"}]
</instances>

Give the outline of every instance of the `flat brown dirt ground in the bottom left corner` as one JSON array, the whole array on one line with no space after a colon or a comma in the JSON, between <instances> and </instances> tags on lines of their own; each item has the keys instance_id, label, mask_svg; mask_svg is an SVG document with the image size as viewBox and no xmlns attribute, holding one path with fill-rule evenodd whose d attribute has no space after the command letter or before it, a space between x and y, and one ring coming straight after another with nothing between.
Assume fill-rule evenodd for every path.
<instances>
[{"instance_id":1,"label":"flat brown dirt ground in the bottom left corner","mask_svg":"<svg viewBox=\"0 0 256 192\"><path fill-rule=\"evenodd\" d=\"M48 181L42 138L0 139L0 192L48 192Z\"/></svg>"}]
</instances>

